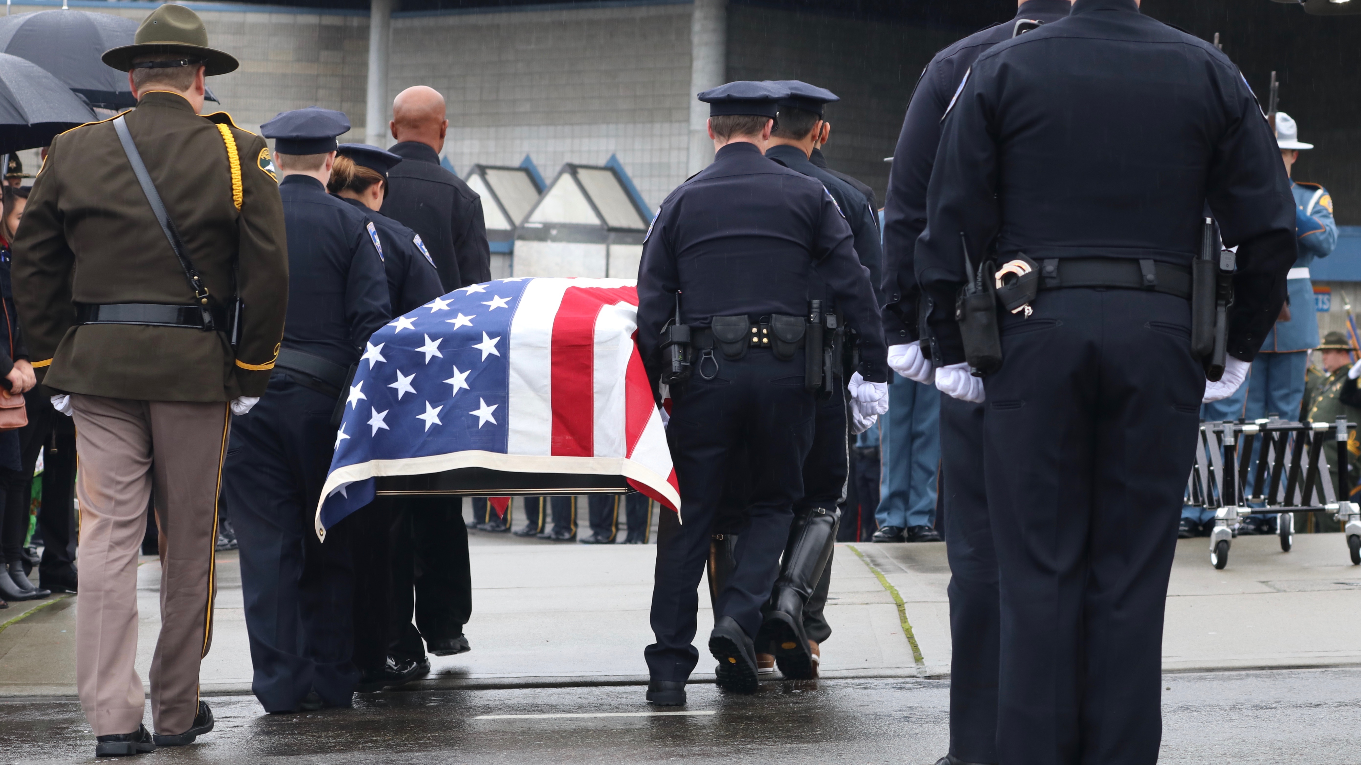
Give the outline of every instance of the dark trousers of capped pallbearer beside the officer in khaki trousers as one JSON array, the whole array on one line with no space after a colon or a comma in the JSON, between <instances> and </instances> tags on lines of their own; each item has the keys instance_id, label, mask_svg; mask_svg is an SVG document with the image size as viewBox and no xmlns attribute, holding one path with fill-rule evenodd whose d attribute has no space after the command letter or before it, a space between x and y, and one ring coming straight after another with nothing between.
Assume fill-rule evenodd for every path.
<instances>
[{"instance_id":1,"label":"dark trousers of capped pallbearer beside the officer in khaki trousers","mask_svg":"<svg viewBox=\"0 0 1361 765\"><path fill-rule=\"evenodd\" d=\"M233 417L225 478L241 544L241 594L255 679L267 712L297 709L316 689L348 707L354 569L350 519L313 530L331 466L335 399L275 374L249 414Z\"/></svg>"}]
</instances>

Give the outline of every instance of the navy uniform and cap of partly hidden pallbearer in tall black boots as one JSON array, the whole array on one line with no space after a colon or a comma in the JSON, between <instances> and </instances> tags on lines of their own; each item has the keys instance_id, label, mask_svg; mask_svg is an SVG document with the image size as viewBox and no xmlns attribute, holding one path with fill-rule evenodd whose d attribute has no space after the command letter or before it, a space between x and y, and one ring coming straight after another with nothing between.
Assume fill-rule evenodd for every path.
<instances>
[{"instance_id":1,"label":"navy uniform and cap of partly hidden pallbearer in tall black boots","mask_svg":"<svg viewBox=\"0 0 1361 765\"><path fill-rule=\"evenodd\" d=\"M806 111L821 118L827 103L840 101L832 91L800 80L776 80L776 84L789 88L789 95L780 101L777 121L788 110ZM841 177L814 164L798 147L772 145L766 148L765 155L795 173L822 182L851 224L855 251L860 265L870 272L870 284L878 285L883 270L883 250L879 242L879 223L870 200ZM833 295L817 277L813 279L810 298L822 300L825 311L837 313ZM882 302L876 292L875 304ZM766 605L766 624L774 624L772 620L776 617L772 611L793 611L788 616L804 633L798 641L800 645L806 645L808 640L823 643L832 637L832 626L823 618L823 607L832 587L832 556L841 519L840 504L847 496L851 469L845 385L847 376L853 370L844 370L840 363L844 345L842 341L834 351L837 364L833 370L833 389L822 391L818 399L813 447L803 463L803 497L795 503L795 519L781 560L780 577ZM762 641L758 640L759 643ZM781 662L780 669L785 677L799 677L810 669L811 655L795 658L799 660Z\"/></svg>"}]
</instances>

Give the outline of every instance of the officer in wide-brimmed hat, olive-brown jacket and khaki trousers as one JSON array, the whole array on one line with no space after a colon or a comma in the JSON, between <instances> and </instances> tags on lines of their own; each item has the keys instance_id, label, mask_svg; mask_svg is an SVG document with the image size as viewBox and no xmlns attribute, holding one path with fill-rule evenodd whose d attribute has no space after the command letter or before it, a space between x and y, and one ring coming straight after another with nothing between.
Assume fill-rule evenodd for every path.
<instances>
[{"instance_id":1,"label":"officer in wide-brimmed hat, olive-brown jacket and khaki trousers","mask_svg":"<svg viewBox=\"0 0 1361 765\"><path fill-rule=\"evenodd\" d=\"M204 77L237 60L208 48L193 11L165 4L103 63L129 72L137 107L52 141L14 245L33 366L76 425L76 689L97 757L212 730L199 663L212 639L222 455L231 413L264 394L289 284L279 192L257 163L264 140L226 114L197 114ZM133 669L152 486L163 534L155 736Z\"/></svg>"}]
</instances>

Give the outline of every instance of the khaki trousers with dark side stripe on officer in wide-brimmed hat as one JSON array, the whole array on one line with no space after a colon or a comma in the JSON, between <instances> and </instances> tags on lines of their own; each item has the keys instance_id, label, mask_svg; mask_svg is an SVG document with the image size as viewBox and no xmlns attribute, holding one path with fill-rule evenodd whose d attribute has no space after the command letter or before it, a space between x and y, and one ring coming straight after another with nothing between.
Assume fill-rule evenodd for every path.
<instances>
[{"instance_id":1,"label":"khaki trousers with dark side stripe on officer in wide-brimmed hat","mask_svg":"<svg viewBox=\"0 0 1361 765\"><path fill-rule=\"evenodd\" d=\"M137 730L137 550L155 486L162 538L161 636L151 716L163 735L193 724L199 663L212 640L214 546L226 402L72 395L80 476L76 689L95 735Z\"/></svg>"}]
</instances>

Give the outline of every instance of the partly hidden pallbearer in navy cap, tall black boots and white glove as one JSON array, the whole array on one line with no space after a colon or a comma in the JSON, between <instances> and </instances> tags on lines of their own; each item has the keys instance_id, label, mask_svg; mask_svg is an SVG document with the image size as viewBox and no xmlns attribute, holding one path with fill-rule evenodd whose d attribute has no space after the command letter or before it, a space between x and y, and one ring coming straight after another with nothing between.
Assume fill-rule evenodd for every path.
<instances>
[{"instance_id":1,"label":"partly hidden pallbearer in navy cap, tall black boots and white glove","mask_svg":"<svg viewBox=\"0 0 1361 765\"><path fill-rule=\"evenodd\" d=\"M837 201L837 207L851 224L853 245L860 265L870 272L870 284L879 284L883 270L883 250L879 245L879 221L870 208L870 201L851 183L808 160L814 147L822 143L827 122L823 113L827 103L841 101L826 88L810 86L800 80L776 80L777 86L789 90L789 95L778 102L776 125L770 130L766 158L818 179ZM836 321L842 315L826 284L813 277L810 298L823 302L823 317L830 318L822 330L823 342L834 346L832 390L823 390L818 399L818 414L814 425L813 447L803 463L803 496L795 503L793 523L789 530L789 544L780 567L780 577L774 583L770 602L766 606L764 632L761 637L776 633L791 633L795 645L780 652L777 664L785 678L806 679L815 677L819 660L819 644L832 636L832 626L822 618L827 591L832 586L832 552L837 541L837 524L841 510L837 507L847 493L847 477L851 467L849 433L847 423L845 375L841 370L844 340L834 341L840 327ZM875 304L882 303L875 296ZM844 332L842 332L844 336ZM856 379L852 375L852 379ZM859 380L856 389L860 390ZM874 395L876 389L866 386L863 393ZM862 417L872 420L889 405L887 397L872 402L855 401ZM862 428L863 429L863 428ZM739 537L740 539L740 537ZM716 545L716 550L731 550L728 545ZM788 640L781 640L787 643ZM757 640L757 650L766 651L766 640Z\"/></svg>"}]
</instances>

